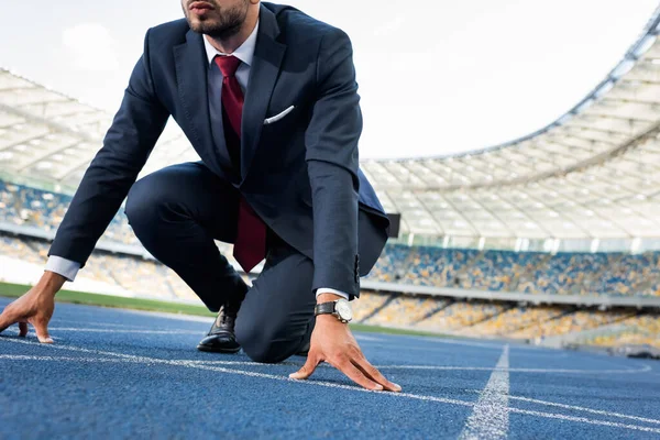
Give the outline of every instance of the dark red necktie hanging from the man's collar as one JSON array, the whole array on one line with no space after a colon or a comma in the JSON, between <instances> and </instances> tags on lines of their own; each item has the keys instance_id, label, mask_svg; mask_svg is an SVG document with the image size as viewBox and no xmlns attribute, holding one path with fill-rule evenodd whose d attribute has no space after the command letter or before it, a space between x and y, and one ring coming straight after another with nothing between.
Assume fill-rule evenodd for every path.
<instances>
[{"instance_id":1,"label":"dark red necktie hanging from the man's collar","mask_svg":"<svg viewBox=\"0 0 660 440\"><path fill-rule=\"evenodd\" d=\"M222 108L231 125L227 127L224 124L224 139L230 155L238 158L240 174L243 91L235 73L241 61L235 56L217 56L216 64L222 72ZM229 130L232 130L235 136L228 136ZM266 226L242 196L239 202L239 224L237 226L233 255L245 273L250 272L266 256Z\"/></svg>"}]
</instances>

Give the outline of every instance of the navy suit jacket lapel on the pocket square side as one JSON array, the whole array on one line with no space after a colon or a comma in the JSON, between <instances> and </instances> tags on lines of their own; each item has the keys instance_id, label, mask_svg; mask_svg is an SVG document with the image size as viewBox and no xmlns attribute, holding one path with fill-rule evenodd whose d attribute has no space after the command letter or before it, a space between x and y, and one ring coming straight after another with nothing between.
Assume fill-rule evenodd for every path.
<instances>
[{"instance_id":1,"label":"navy suit jacket lapel on the pocket square side","mask_svg":"<svg viewBox=\"0 0 660 440\"><path fill-rule=\"evenodd\" d=\"M250 67L250 81L241 123L241 176L243 180L256 153L266 111L273 95L286 45L275 41L279 26L275 14L261 7L258 35Z\"/></svg>"}]
</instances>

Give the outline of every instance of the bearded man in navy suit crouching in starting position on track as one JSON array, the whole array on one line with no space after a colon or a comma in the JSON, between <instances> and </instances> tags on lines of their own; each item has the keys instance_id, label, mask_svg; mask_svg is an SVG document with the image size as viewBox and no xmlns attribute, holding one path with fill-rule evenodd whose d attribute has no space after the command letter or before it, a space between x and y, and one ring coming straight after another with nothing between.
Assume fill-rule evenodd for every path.
<instances>
[{"instance_id":1,"label":"bearded man in navy suit crouching in starting position on track","mask_svg":"<svg viewBox=\"0 0 660 440\"><path fill-rule=\"evenodd\" d=\"M0 329L31 322L52 342L53 297L85 265L128 196L146 250L219 311L198 349L279 362L308 351L370 389L400 391L362 354L346 321L388 221L359 169L362 131L345 33L260 0L182 0L186 19L151 29L103 147L51 248L44 276ZM201 157L135 183L173 117ZM213 240L234 244L249 287Z\"/></svg>"}]
</instances>

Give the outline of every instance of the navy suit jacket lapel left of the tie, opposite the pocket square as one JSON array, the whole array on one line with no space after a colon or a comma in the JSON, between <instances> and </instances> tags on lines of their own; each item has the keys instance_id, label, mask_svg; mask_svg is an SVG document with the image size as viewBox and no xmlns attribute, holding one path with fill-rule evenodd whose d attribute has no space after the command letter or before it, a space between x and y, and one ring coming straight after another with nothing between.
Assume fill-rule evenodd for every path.
<instances>
[{"instance_id":1,"label":"navy suit jacket lapel left of the tie, opposite the pocket square","mask_svg":"<svg viewBox=\"0 0 660 440\"><path fill-rule=\"evenodd\" d=\"M198 147L207 150L218 164L227 164L219 152L227 151L224 136L213 142L211 117L209 110L208 59L204 50L204 36L193 31L186 34L186 43L174 47L178 94L185 116L193 128ZM220 98L218 98L220 99ZM222 118L215 123L222 124ZM222 128L220 132L223 133ZM213 147L216 145L216 147Z\"/></svg>"}]
</instances>

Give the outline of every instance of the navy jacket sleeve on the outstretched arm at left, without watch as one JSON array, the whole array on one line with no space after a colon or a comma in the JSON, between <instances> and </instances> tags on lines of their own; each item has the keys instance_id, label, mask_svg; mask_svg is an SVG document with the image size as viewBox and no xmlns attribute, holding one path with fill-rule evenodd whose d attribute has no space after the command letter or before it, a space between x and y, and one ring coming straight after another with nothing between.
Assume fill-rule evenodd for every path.
<instances>
[{"instance_id":1,"label":"navy jacket sleeve on the outstretched arm at left, without watch","mask_svg":"<svg viewBox=\"0 0 660 440\"><path fill-rule=\"evenodd\" d=\"M165 128L169 114L152 84L148 35L103 146L85 173L48 255L85 265Z\"/></svg>"}]
</instances>

